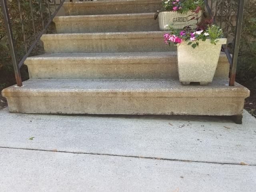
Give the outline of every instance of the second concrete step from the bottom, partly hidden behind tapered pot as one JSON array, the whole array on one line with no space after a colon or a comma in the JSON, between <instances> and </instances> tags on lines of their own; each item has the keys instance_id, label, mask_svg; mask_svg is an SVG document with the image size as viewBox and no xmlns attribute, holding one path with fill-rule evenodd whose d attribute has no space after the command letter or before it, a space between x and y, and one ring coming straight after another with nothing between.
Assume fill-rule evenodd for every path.
<instances>
[{"instance_id":1,"label":"second concrete step from the bottom, partly hidden behind tapered pot","mask_svg":"<svg viewBox=\"0 0 256 192\"><path fill-rule=\"evenodd\" d=\"M176 52L44 54L27 58L30 78L178 78ZM215 77L228 78L230 64L220 54Z\"/></svg>"}]
</instances>

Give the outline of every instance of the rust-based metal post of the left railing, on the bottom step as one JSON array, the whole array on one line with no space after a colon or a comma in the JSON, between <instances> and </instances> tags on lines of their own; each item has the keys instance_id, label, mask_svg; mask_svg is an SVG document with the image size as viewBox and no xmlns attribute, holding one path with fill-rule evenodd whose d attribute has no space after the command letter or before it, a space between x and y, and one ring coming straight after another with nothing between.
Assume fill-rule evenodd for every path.
<instances>
[{"instance_id":1,"label":"rust-based metal post of the left railing, on the bottom step","mask_svg":"<svg viewBox=\"0 0 256 192\"><path fill-rule=\"evenodd\" d=\"M6 27L6 34L8 37L8 44L10 46L10 52L11 52L11 56L12 56L12 64L14 67L15 78L16 78L17 86L21 87L22 80L21 80L21 75L20 75L20 68L18 66L16 50L15 50L15 46L14 46L12 26L11 26L11 22L10 22L9 12L8 12L8 8L7 8L6 0L0 0L0 2L1 2L2 12L3 12L3 16L4 16L4 23L5 23L5 27Z\"/></svg>"}]
</instances>

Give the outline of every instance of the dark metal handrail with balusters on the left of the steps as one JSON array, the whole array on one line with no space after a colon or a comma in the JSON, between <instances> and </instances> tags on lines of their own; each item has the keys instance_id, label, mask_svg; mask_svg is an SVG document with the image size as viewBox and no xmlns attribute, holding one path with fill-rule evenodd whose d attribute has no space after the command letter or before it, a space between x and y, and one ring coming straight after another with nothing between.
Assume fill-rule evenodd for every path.
<instances>
[{"instance_id":1,"label":"dark metal handrail with balusters on the left of the steps","mask_svg":"<svg viewBox=\"0 0 256 192\"><path fill-rule=\"evenodd\" d=\"M46 30L48 29L49 25L51 24L53 18L56 16L58 10L60 10L60 8L62 7L65 0L61 0L60 5L58 7L56 6L56 0L47 0L49 20L48 20L48 22L45 26L44 26L43 14L42 14L42 1L39 0L40 14L41 14L41 19L42 19L43 30L38 35L36 35L36 30L35 30L34 14L33 14L33 10L32 10L32 0L29 0L31 17L32 17L33 34L34 34L34 38L35 38L35 41L32 43L32 45L30 46L29 49L27 48L27 43L26 43L26 36L25 36L25 32L24 32L24 23L23 23L23 18L22 18L22 11L20 9L20 0L17 0L17 2L18 2L18 8L19 8L19 12L20 12L20 22L22 24L22 32L23 32L23 38L24 38L25 50L26 50L26 54L23 56L23 58L20 61L18 61L17 52L16 52L15 45L14 45L12 24L10 22L10 16L9 16L7 3L6 3L6 0L0 0L1 8L2 8L2 12L3 12L3 16L4 16L4 23L5 23L5 27L6 27L6 35L7 35L7 38L8 38L8 44L10 46L12 64L14 66L15 78L16 78L17 86L20 87L20 86L22 86L20 67L22 66L22 64L24 63L26 58L30 55L32 50L36 47L36 45L38 44L41 36L46 32ZM51 14L50 3L54 3L55 11L54 11L53 14Z\"/></svg>"}]
</instances>

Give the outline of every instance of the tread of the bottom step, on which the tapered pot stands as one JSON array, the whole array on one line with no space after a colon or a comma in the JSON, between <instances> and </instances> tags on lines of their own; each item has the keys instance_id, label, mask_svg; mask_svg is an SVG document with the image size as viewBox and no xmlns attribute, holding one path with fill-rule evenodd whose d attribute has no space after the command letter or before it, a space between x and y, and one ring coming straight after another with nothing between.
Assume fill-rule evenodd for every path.
<instances>
[{"instance_id":1,"label":"tread of the bottom step, on which the tapered pot stands","mask_svg":"<svg viewBox=\"0 0 256 192\"><path fill-rule=\"evenodd\" d=\"M34 80L30 79L23 82L24 86L16 87L11 86L3 91L6 92L162 92L168 93L168 96L174 92L180 92L183 95L191 97L193 95L198 96L198 92L202 92L204 95L210 97L214 96L226 96L234 97L249 94L249 91L244 86L236 83L234 87L228 86L227 78L215 78L208 86L200 86L198 84L192 84L189 86L182 85L178 79L167 80L151 80L151 79L114 79L114 80ZM234 94L232 94L234 93ZM162 95L161 95L162 96Z\"/></svg>"}]
</instances>

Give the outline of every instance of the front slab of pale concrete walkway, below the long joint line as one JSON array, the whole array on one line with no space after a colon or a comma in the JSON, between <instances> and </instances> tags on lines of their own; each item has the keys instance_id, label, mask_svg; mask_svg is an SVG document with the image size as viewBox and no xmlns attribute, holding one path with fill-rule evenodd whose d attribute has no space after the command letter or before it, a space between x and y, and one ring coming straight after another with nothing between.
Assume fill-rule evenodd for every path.
<instances>
[{"instance_id":1,"label":"front slab of pale concrete walkway, below the long joint line","mask_svg":"<svg viewBox=\"0 0 256 192\"><path fill-rule=\"evenodd\" d=\"M1 192L254 192L256 166L0 149Z\"/></svg>"}]
</instances>

